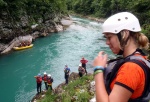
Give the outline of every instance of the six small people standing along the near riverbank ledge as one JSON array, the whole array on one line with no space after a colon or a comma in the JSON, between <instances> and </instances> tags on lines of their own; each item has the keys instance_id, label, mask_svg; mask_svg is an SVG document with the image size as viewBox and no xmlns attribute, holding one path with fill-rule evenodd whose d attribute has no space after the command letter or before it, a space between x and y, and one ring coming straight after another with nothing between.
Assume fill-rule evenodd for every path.
<instances>
[{"instance_id":1,"label":"six small people standing along the near riverbank ledge","mask_svg":"<svg viewBox=\"0 0 150 102\"><path fill-rule=\"evenodd\" d=\"M82 77L85 73L87 74L86 63L88 62L88 60L82 57L80 62L81 64L79 64L78 72L79 72L79 76ZM65 65L65 68L64 68L65 84L68 84L69 74L70 74L70 68L68 67L68 65ZM44 72L43 76L39 73L37 76L34 76L34 77L36 78L38 94L41 93L42 81L45 84L45 90L48 90L49 88L53 90L52 88L53 78L51 77L50 74L47 74L46 72Z\"/></svg>"}]
</instances>

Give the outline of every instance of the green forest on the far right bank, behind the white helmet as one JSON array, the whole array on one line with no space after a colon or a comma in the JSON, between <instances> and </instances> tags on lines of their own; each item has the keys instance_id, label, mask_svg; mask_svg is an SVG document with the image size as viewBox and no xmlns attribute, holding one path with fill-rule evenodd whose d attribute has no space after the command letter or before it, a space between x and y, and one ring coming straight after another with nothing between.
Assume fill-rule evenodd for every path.
<instances>
[{"instance_id":1,"label":"green forest on the far right bank, behind the white helmet","mask_svg":"<svg viewBox=\"0 0 150 102\"><path fill-rule=\"evenodd\" d=\"M99 18L107 18L122 11L132 12L139 18L142 32L150 39L149 0L67 0L67 9L77 14Z\"/></svg>"}]
</instances>

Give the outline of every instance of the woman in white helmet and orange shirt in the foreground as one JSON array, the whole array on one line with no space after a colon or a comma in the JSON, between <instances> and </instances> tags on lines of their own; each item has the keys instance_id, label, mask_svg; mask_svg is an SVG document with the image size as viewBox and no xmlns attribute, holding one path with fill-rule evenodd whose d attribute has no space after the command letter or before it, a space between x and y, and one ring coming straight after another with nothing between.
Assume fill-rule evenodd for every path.
<instances>
[{"instance_id":1,"label":"woman in white helmet and orange shirt in the foreground","mask_svg":"<svg viewBox=\"0 0 150 102\"><path fill-rule=\"evenodd\" d=\"M106 44L114 54L123 56L122 61L132 57L134 60L138 60L135 56L142 61L146 60L141 49L147 49L149 41L144 34L140 33L139 20L132 13L121 12L109 17L102 25L102 29L106 37ZM113 79L111 81L104 80L103 72L107 70L107 54L103 51L99 52L93 63L97 102L133 102L142 97L146 86L146 74L143 67L130 62L130 60L122 64L118 60L121 66L116 66L117 62L115 65L118 67L117 72L115 72L115 67L112 69L112 73L116 73ZM148 101L136 100L134 102Z\"/></svg>"}]
</instances>

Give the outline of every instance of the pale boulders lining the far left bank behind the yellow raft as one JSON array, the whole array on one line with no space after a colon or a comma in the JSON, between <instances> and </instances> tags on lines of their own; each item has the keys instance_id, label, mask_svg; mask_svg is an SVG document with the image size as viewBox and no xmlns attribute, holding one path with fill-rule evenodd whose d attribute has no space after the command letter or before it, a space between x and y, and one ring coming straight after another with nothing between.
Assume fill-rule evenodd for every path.
<instances>
[{"instance_id":1,"label":"pale boulders lining the far left bank behind the yellow raft","mask_svg":"<svg viewBox=\"0 0 150 102\"><path fill-rule=\"evenodd\" d=\"M53 32L61 32L66 29L66 27L72 24L72 19L70 17L64 17L59 23L52 22L50 20L46 21L44 26L45 29L41 30L41 25L34 24L31 26L32 33L26 34L24 36L15 37L9 43L0 43L0 54L6 54L12 51L13 47L19 46L21 42L32 43L38 37L46 37ZM8 31L8 29L7 29ZM5 32L7 33L7 32ZM13 32L12 32L13 33ZM27 32L28 33L28 32Z\"/></svg>"}]
</instances>

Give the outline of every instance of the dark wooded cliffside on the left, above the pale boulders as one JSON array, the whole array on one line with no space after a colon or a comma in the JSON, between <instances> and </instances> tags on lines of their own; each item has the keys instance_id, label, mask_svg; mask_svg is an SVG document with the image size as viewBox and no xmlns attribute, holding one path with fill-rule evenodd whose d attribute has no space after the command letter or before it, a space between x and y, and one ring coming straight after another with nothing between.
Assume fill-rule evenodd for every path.
<instances>
[{"instance_id":1,"label":"dark wooded cliffside on the left, above the pale boulders","mask_svg":"<svg viewBox=\"0 0 150 102\"><path fill-rule=\"evenodd\" d=\"M30 34L34 24L59 23L66 10L65 0L0 0L0 42Z\"/></svg>"}]
</instances>

